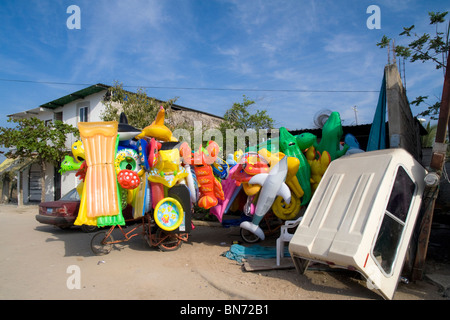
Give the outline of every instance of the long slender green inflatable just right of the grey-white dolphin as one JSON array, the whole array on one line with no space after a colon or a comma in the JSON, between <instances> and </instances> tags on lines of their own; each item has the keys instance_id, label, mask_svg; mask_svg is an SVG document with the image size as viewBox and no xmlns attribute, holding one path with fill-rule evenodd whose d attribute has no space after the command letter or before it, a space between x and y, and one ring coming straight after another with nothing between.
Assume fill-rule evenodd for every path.
<instances>
[{"instance_id":1,"label":"long slender green inflatable just right of the grey-white dolphin","mask_svg":"<svg viewBox=\"0 0 450 320\"><path fill-rule=\"evenodd\" d=\"M297 180L305 193L302 197L302 205L306 205L311 200L311 168L309 163L299 148L296 138L284 127L280 128L279 144L281 152L288 157L295 157L300 161Z\"/></svg>"}]
</instances>

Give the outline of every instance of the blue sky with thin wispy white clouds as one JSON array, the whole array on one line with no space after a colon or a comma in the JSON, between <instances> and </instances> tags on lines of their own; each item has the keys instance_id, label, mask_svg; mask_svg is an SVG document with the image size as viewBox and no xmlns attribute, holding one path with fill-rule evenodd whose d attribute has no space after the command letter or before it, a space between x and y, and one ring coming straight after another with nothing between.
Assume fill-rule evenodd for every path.
<instances>
[{"instance_id":1,"label":"blue sky with thin wispy white clouds","mask_svg":"<svg viewBox=\"0 0 450 320\"><path fill-rule=\"evenodd\" d=\"M79 30L67 28L70 5L80 8ZM381 29L366 26L370 5ZM246 95L288 129L311 128L322 109L355 124L353 106L359 124L371 123L387 63L376 43L383 34L406 43L398 34L412 24L433 34L428 12L448 10L448 1L412 0L2 0L0 125L86 87L77 84L116 80L131 91L164 87L146 91L217 115ZM406 63L410 101L434 103L442 84L433 64Z\"/></svg>"}]
</instances>

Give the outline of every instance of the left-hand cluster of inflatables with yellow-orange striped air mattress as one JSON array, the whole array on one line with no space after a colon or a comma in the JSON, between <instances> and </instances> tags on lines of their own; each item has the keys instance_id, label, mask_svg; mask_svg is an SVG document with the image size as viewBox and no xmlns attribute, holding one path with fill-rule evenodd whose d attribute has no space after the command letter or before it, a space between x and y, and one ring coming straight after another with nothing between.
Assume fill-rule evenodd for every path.
<instances>
[{"instance_id":1,"label":"left-hand cluster of inflatables with yellow-orange striped air mattress","mask_svg":"<svg viewBox=\"0 0 450 320\"><path fill-rule=\"evenodd\" d=\"M209 209L224 199L212 168L217 144L192 153L173 137L164 118L161 107L142 131L128 125L124 114L119 123L78 124L81 141L61 165L61 172L75 170L81 180L75 225L124 225L122 209L131 205L135 219L153 211L161 229L189 231L185 218L193 203Z\"/></svg>"}]
</instances>

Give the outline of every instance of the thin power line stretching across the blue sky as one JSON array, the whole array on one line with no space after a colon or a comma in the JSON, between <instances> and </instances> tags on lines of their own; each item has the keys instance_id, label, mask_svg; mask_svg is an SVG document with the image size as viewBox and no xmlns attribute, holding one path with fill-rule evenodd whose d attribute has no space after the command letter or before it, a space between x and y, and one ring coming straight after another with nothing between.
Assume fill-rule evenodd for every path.
<instances>
[{"instance_id":1,"label":"thin power line stretching across the blue sky","mask_svg":"<svg viewBox=\"0 0 450 320\"><path fill-rule=\"evenodd\" d=\"M70 85L70 86L92 86L96 83L69 83L54 81L35 81L35 80L17 80L17 79L1 79L5 82L22 82L37 84L53 84L53 85ZM303 90L303 89L250 89L250 88L204 88L204 87L173 87L173 86L131 86L124 85L125 88L143 88L143 89L165 89L165 90L197 90L197 91L248 91L248 92L296 92L296 93L368 93L379 92L379 90Z\"/></svg>"}]
</instances>

